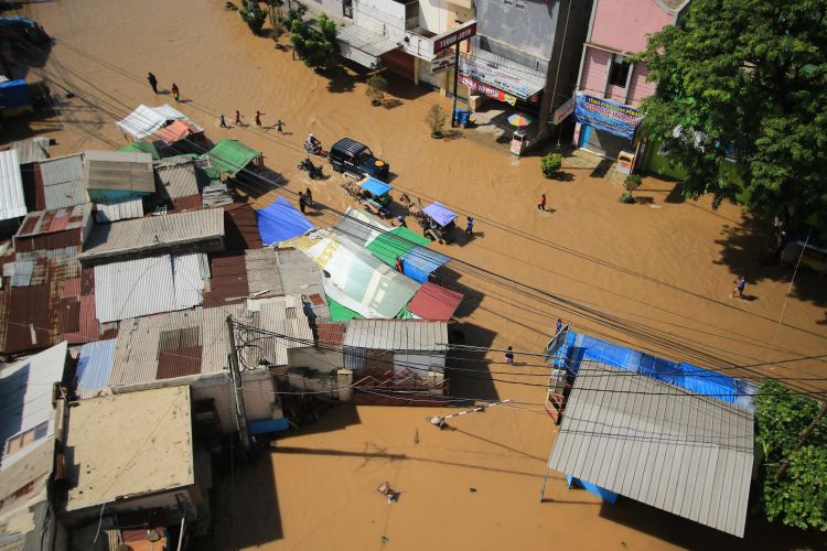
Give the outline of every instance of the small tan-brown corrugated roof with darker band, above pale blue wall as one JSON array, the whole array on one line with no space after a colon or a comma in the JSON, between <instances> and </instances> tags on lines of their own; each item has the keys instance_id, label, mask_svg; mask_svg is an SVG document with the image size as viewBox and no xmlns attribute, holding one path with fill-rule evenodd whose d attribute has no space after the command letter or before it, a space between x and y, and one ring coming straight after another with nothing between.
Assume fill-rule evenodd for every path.
<instances>
[{"instance_id":1,"label":"small tan-brown corrugated roof with darker band, above pale blue wall","mask_svg":"<svg viewBox=\"0 0 827 551\"><path fill-rule=\"evenodd\" d=\"M84 168L87 190L155 191L152 155L149 153L86 151Z\"/></svg>"}]
</instances>

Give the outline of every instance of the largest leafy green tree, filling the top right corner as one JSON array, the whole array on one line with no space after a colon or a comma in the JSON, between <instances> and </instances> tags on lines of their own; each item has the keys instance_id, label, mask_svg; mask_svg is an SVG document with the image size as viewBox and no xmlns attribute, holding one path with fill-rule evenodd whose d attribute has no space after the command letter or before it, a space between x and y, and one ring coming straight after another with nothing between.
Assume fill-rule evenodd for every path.
<instances>
[{"instance_id":1,"label":"largest leafy green tree, filling the top right corner","mask_svg":"<svg viewBox=\"0 0 827 551\"><path fill-rule=\"evenodd\" d=\"M644 127L687 171L685 196L827 223L825 25L824 0L695 0L649 37Z\"/></svg>"}]
</instances>

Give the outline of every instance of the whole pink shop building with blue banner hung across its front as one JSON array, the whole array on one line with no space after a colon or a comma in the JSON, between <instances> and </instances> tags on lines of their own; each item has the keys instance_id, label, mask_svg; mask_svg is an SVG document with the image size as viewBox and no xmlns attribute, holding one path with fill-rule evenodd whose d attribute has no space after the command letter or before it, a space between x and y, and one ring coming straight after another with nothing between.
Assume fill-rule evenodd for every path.
<instances>
[{"instance_id":1,"label":"whole pink shop building with blue banner hung across its front","mask_svg":"<svg viewBox=\"0 0 827 551\"><path fill-rule=\"evenodd\" d=\"M655 93L646 65L632 56L647 36L675 24L689 0L595 0L583 43L574 112L578 147L616 160L642 156L636 136L641 100ZM633 161L633 162L635 162Z\"/></svg>"}]
</instances>

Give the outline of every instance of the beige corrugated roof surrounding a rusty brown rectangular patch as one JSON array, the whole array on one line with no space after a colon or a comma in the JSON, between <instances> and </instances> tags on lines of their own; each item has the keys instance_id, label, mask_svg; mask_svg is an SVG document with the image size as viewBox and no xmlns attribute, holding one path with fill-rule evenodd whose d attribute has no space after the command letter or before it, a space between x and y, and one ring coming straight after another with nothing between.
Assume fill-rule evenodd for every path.
<instances>
[{"instance_id":1,"label":"beige corrugated roof surrounding a rusty brown rectangular patch","mask_svg":"<svg viewBox=\"0 0 827 551\"><path fill-rule=\"evenodd\" d=\"M216 374L227 369L227 315L251 322L244 304L185 310L168 314L125 320L118 333L115 367L109 378L110 387L151 382L158 379L159 344L164 332L197 328L201 374ZM183 359L187 358L187 355Z\"/></svg>"}]
</instances>

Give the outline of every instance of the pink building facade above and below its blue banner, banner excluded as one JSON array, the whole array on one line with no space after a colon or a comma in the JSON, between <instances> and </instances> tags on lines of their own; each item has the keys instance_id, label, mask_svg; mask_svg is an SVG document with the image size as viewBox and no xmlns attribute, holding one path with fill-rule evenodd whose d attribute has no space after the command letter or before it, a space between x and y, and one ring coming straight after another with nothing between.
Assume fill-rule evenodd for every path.
<instances>
[{"instance_id":1,"label":"pink building facade above and below its blue banner, banner excluded","mask_svg":"<svg viewBox=\"0 0 827 551\"><path fill-rule=\"evenodd\" d=\"M646 48L648 35L675 24L689 0L594 0L583 44L577 94L636 108L655 93L646 66L631 57ZM574 141L597 154L617 159L634 152L633 140L578 122Z\"/></svg>"}]
</instances>

